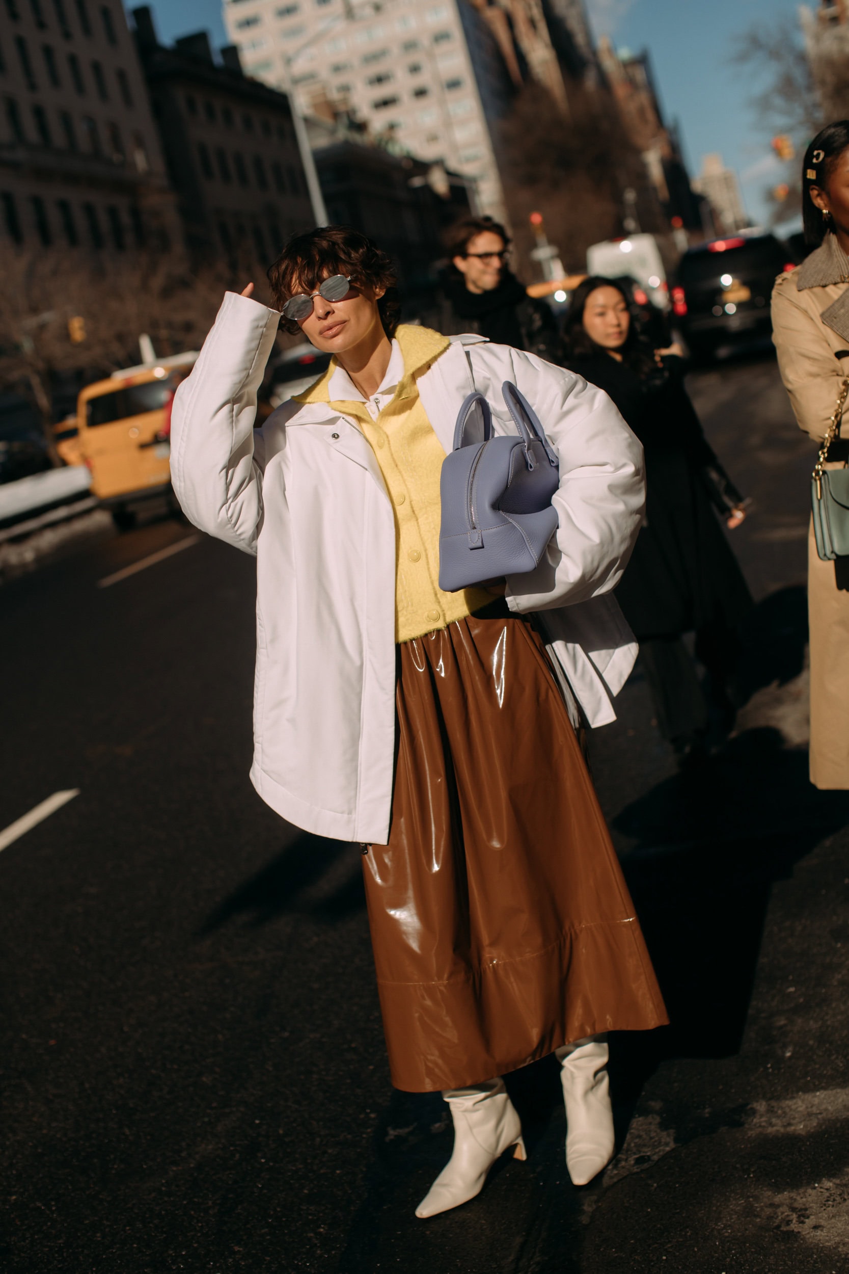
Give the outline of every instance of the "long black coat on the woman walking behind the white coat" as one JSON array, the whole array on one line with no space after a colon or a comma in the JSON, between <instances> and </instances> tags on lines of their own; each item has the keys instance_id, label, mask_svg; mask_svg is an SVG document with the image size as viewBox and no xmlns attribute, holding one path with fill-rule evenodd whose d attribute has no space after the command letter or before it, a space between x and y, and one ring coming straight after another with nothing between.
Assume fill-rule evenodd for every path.
<instances>
[{"instance_id":1,"label":"long black coat on the woman walking behind the white coat","mask_svg":"<svg viewBox=\"0 0 849 1274\"><path fill-rule=\"evenodd\" d=\"M610 395L645 451L645 525L616 590L634 636L736 627L752 599L717 512L741 497L704 436L682 361L664 358L645 378L610 354L569 367Z\"/></svg>"}]
</instances>

